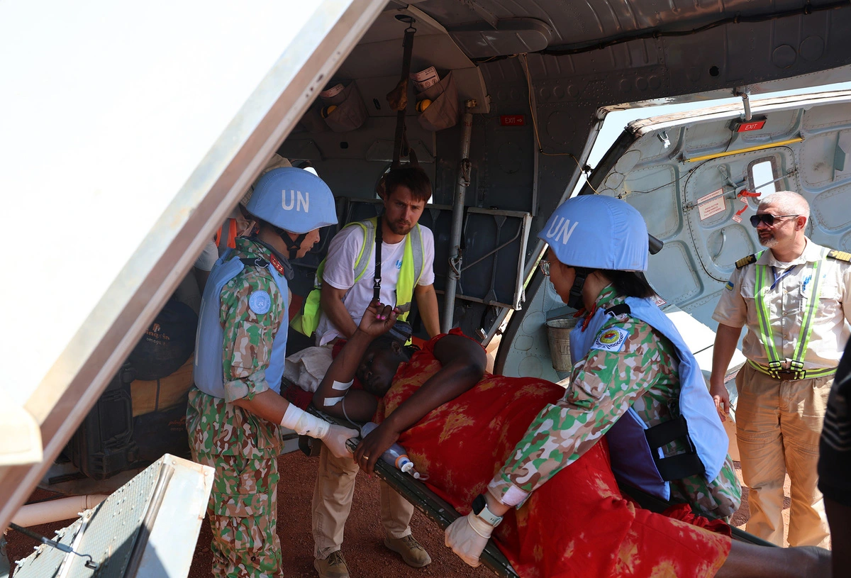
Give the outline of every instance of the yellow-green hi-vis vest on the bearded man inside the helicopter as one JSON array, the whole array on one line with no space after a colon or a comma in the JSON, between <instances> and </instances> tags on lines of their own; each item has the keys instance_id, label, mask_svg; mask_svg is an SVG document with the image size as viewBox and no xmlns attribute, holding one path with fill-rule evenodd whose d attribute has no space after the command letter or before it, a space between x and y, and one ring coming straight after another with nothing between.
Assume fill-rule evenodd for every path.
<instances>
[{"instance_id":1,"label":"yellow-green hi-vis vest on the bearded man inside the helicopter","mask_svg":"<svg viewBox=\"0 0 851 578\"><path fill-rule=\"evenodd\" d=\"M372 219L355 221L346 226L359 226L363 230L363 245L357 254L357 259L353 264L355 272L355 283L361 280L367 273L370 256L374 255L375 249L375 226L378 223L378 217ZM346 227L344 227L346 228ZM367 247L369 248L367 251ZM420 282L423 273L423 263L426 260L425 251L423 249L422 231L420 224L414 226L407 235L405 235L405 249L402 255L402 268L399 270L399 278L396 282L396 299L395 305L404 305L410 303L414 298L414 287ZM317 268L316 278L314 278L313 289L305 299L305 305L299 315L293 318L290 323L293 329L301 334L310 337L319 326L319 313L321 312L321 296L322 296L322 279L325 272L325 261L319 264ZM400 321L408 319L408 312L403 313L398 317Z\"/></svg>"}]
</instances>

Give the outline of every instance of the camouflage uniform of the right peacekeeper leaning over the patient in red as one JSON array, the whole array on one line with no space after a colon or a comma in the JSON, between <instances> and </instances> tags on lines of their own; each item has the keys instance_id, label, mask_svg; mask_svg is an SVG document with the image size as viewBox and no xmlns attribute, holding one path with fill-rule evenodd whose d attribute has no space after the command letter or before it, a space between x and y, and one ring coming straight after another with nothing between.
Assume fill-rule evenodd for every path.
<instances>
[{"instance_id":1,"label":"camouflage uniform of the right peacekeeper leaning over the patient in red","mask_svg":"<svg viewBox=\"0 0 851 578\"><path fill-rule=\"evenodd\" d=\"M608 308L623 301L608 287L596 306ZM504 496L512 487L533 492L578 460L630 406L648 426L671 419L669 402L679 398L680 390L671 342L648 323L629 316L609 318L598 335L612 327L629 332L624 346L618 352L591 349L576 363L564 397L540 411L489 485L494 495ZM679 441L663 448L665 455L684 450ZM708 518L735 512L741 487L729 456L711 483L700 475L671 482L671 501L688 502Z\"/></svg>"}]
</instances>

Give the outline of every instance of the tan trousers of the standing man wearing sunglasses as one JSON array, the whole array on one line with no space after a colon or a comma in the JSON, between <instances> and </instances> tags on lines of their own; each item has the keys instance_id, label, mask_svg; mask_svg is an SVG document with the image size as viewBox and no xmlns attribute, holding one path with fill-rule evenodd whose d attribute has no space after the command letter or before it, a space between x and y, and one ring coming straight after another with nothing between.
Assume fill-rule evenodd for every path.
<instances>
[{"instance_id":1,"label":"tan trousers of the standing man wearing sunglasses","mask_svg":"<svg viewBox=\"0 0 851 578\"><path fill-rule=\"evenodd\" d=\"M780 381L745 366L736 376L736 437L750 489L747 531L783 546L783 483L791 479L789 545L826 547L830 536L817 484L819 438L833 376Z\"/></svg>"}]
</instances>

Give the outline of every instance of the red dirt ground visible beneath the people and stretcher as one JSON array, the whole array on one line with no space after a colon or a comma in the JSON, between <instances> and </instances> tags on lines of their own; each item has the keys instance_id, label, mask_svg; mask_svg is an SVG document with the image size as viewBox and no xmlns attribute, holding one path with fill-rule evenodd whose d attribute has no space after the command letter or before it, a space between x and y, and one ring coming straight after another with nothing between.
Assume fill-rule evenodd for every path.
<instances>
[{"instance_id":1,"label":"red dirt ground visible beneath the people and stretcher","mask_svg":"<svg viewBox=\"0 0 851 578\"><path fill-rule=\"evenodd\" d=\"M738 473L739 463L734 462L734 464ZM278 470L281 473L281 482L278 484L278 535L281 538L283 550L283 575L288 578L313 578L317 576L313 569L313 539L311 536L311 495L316 480L316 468L317 459L308 458L300 452L282 455L279 460ZM789 478L786 478L785 493L787 500L784 518L787 525L789 523L788 482ZM37 490L32 499L44 499L48 496L48 492ZM734 514L732 523L744 529L747 518L747 489L744 488L742 505L739 511ZM41 535L52 537L56 529L68 524L70 522L44 524L34 527L33 530ZM461 562L460 558L457 558L447 547L443 546L443 531L420 512L414 512L411 528L417 540L431 554L433 561L426 568L410 568L403 563L397 554L384 547L384 530L380 522L378 478L368 478L363 472L358 474L355 499L346 523L346 541L343 544L343 554L346 556L351 575L354 578L413 578L422 576L456 578L492 575L488 569L472 569ZM15 560L27 556L32 547L36 546L35 541L14 531L9 531L6 538L9 541L9 559L13 563ZM191 578L204 578L210 575L209 543L209 525L204 521L189 574Z\"/></svg>"}]
</instances>

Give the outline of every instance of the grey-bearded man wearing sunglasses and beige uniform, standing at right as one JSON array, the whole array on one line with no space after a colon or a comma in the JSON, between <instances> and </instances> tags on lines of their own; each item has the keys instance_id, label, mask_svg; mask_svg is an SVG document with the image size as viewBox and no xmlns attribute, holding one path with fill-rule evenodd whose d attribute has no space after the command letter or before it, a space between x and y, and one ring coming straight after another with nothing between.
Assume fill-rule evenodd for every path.
<instances>
[{"instance_id":1,"label":"grey-bearded man wearing sunglasses and beige uniform, standing at right","mask_svg":"<svg viewBox=\"0 0 851 578\"><path fill-rule=\"evenodd\" d=\"M751 216L766 249L736 261L712 315L718 329L710 389L724 420L724 376L746 325L735 415L742 477L751 489L747 531L783 546L788 472L790 546L826 547L816 466L827 396L851 333L851 255L808 239L808 220L808 203L788 191L763 198Z\"/></svg>"}]
</instances>

